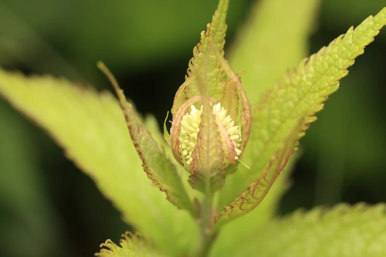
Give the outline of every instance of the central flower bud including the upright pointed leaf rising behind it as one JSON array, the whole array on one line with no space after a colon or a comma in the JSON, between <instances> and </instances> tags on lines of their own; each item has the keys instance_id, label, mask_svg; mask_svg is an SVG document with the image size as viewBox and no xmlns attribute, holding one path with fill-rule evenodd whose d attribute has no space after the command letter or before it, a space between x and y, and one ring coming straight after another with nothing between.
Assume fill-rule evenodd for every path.
<instances>
[{"instance_id":1,"label":"central flower bud including the upright pointed leaf rising behind it","mask_svg":"<svg viewBox=\"0 0 386 257\"><path fill-rule=\"evenodd\" d=\"M175 94L170 137L165 133L165 138L191 173L190 185L211 194L222 188L227 167L242 162L252 115L240 78L223 57L224 39L211 38L210 30L201 39Z\"/></svg>"}]
</instances>

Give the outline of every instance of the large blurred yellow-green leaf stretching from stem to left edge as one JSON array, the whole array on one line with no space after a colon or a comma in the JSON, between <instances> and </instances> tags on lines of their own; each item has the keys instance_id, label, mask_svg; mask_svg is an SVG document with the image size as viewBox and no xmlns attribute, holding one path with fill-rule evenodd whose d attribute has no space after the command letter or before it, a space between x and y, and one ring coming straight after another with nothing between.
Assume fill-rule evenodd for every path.
<instances>
[{"instance_id":1,"label":"large blurred yellow-green leaf stretching from stem to left edge","mask_svg":"<svg viewBox=\"0 0 386 257\"><path fill-rule=\"evenodd\" d=\"M198 228L151 187L115 97L51 76L25 77L0 69L0 94L65 149L123 214L168 256L191 251Z\"/></svg>"}]
</instances>

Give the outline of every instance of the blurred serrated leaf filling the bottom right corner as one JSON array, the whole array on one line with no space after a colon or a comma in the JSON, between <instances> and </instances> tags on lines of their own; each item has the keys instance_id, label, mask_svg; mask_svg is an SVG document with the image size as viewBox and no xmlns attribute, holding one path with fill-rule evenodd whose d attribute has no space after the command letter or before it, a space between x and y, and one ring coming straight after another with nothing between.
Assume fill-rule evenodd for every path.
<instances>
[{"instance_id":1,"label":"blurred serrated leaf filling the bottom right corner","mask_svg":"<svg viewBox=\"0 0 386 257\"><path fill-rule=\"evenodd\" d=\"M384 257L386 205L339 204L296 211L250 234L228 256Z\"/></svg>"}]
</instances>

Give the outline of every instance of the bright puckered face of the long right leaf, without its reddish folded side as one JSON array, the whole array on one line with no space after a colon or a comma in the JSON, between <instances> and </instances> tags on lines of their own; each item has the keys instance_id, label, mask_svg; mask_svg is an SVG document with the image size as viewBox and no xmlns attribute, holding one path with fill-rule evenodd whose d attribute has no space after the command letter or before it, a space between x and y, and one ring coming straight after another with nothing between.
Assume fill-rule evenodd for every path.
<instances>
[{"instance_id":1,"label":"bright puckered face of the long right leaf, without its reddish folded side","mask_svg":"<svg viewBox=\"0 0 386 257\"><path fill-rule=\"evenodd\" d=\"M309 60L305 59L274 84L252 115L249 138L252 148L247 147L244 152L247 160L254 160L251 170L240 167L227 178L220 207L233 202L248 186L263 178L262 171L267 169L302 115L308 114L304 124L316 120L314 114L322 109L322 102L338 89L339 80L348 74L347 68L385 24L386 8L374 18L367 18L355 30L351 27L346 35L339 36Z\"/></svg>"}]
</instances>

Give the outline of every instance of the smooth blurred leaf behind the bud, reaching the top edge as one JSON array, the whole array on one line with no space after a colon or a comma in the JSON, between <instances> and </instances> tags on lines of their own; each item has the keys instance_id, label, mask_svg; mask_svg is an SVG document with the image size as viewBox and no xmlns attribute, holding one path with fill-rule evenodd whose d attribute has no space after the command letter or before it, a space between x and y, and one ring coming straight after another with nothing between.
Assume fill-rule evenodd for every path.
<instances>
[{"instance_id":1,"label":"smooth blurred leaf behind the bud, reaching the top edge","mask_svg":"<svg viewBox=\"0 0 386 257\"><path fill-rule=\"evenodd\" d=\"M245 72L243 87L252 106L288 67L308 55L308 39L319 2L259 0L252 4L227 52L232 68Z\"/></svg>"}]
</instances>

